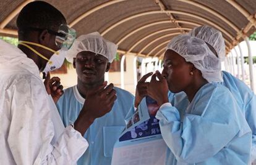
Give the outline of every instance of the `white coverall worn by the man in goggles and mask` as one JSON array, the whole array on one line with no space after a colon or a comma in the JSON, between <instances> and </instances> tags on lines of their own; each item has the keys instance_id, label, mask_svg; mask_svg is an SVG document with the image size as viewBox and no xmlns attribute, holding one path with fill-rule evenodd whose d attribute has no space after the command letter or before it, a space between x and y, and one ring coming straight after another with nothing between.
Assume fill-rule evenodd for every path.
<instances>
[{"instance_id":1,"label":"white coverall worn by the man in goggles and mask","mask_svg":"<svg viewBox=\"0 0 256 165\"><path fill-rule=\"evenodd\" d=\"M0 40L0 164L76 164L88 147L64 128L35 62Z\"/></svg>"}]
</instances>

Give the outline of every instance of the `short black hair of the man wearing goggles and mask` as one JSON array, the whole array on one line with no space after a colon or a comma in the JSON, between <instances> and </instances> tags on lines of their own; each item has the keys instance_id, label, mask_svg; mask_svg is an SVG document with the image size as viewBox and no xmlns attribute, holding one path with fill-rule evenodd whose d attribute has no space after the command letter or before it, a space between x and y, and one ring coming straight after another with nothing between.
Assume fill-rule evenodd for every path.
<instances>
[{"instance_id":1,"label":"short black hair of the man wearing goggles and mask","mask_svg":"<svg viewBox=\"0 0 256 165\"><path fill-rule=\"evenodd\" d=\"M66 18L51 4L34 1L23 7L16 24L20 38L29 33L32 28L57 31L59 25L66 24Z\"/></svg>"}]
</instances>

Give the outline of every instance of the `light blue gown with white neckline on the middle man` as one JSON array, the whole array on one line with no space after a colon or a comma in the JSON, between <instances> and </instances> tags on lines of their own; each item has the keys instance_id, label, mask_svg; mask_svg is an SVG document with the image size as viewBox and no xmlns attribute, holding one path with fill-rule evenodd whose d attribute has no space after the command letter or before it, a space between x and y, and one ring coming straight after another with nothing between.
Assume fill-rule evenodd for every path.
<instances>
[{"instance_id":1,"label":"light blue gown with white neckline on the middle man","mask_svg":"<svg viewBox=\"0 0 256 165\"><path fill-rule=\"evenodd\" d=\"M77 164L108 165L111 164L113 146L126 126L127 112L134 105L134 96L127 91L114 87L117 100L112 110L101 118L95 119L85 132L89 147ZM85 99L77 91L77 86L69 87L59 99L57 107L64 126L74 123L79 116Z\"/></svg>"}]
</instances>

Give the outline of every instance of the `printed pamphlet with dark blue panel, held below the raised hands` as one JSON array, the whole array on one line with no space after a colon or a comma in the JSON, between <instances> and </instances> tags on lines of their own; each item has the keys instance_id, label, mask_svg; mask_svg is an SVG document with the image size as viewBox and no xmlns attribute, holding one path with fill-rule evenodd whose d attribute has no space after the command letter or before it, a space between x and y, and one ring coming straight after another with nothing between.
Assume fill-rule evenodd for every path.
<instances>
[{"instance_id":1,"label":"printed pamphlet with dark blue panel, held below the raised hands","mask_svg":"<svg viewBox=\"0 0 256 165\"><path fill-rule=\"evenodd\" d=\"M167 145L161 136L159 120L155 118L158 109L150 97L142 100L114 145L112 165L165 163Z\"/></svg>"}]
</instances>

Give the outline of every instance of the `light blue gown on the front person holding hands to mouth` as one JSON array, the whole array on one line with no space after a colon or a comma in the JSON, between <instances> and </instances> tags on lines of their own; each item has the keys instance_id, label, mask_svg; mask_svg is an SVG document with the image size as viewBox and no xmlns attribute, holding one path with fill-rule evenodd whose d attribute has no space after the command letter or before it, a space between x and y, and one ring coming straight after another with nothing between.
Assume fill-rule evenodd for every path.
<instances>
[{"instance_id":1,"label":"light blue gown on the front person holding hands to mouth","mask_svg":"<svg viewBox=\"0 0 256 165\"><path fill-rule=\"evenodd\" d=\"M156 118L168 145L166 164L248 164L252 133L229 90L218 83L199 89L191 103L175 95Z\"/></svg>"}]
</instances>

